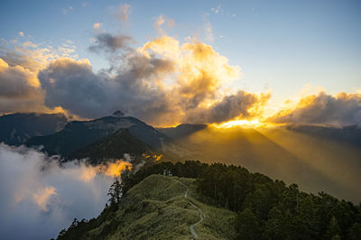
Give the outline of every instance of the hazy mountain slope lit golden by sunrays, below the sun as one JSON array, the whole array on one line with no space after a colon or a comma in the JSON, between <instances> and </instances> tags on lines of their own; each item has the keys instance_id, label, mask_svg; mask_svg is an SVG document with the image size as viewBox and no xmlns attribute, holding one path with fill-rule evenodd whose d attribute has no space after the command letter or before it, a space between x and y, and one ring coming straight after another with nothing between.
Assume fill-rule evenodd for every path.
<instances>
[{"instance_id":1,"label":"hazy mountain slope lit golden by sunrays, below the sun","mask_svg":"<svg viewBox=\"0 0 361 240\"><path fill-rule=\"evenodd\" d=\"M197 126L194 127L197 129ZM170 132L174 129L171 128ZM166 133L166 131L162 131ZM245 166L314 193L326 190L360 201L361 138L356 127L315 126L228 128L208 126L182 134L174 144L189 150L185 159Z\"/></svg>"}]
</instances>

